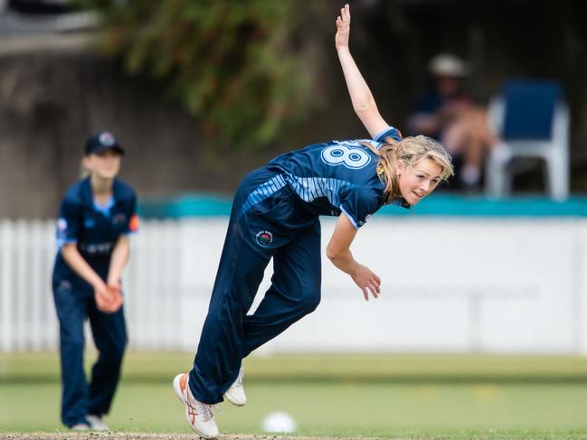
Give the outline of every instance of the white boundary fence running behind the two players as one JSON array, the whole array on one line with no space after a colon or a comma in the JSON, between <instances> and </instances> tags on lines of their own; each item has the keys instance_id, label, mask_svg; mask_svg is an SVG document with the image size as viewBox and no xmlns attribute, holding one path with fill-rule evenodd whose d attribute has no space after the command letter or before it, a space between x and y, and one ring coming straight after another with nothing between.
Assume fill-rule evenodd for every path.
<instances>
[{"instance_id":1,"label":"white boundary fence running behind the two players","mask_svg":"<svg viewBox=\"0 0 587 440\"><path fill-rule=\"evenodd\" d=\"M227 220L143 221L124 279L132 348L195 350ZM0 351L57 349L53 235L0 221ZM586 248L585 219L375 218L353 251L383 295L365 303L323 257L322 304L261 350L587 355Z\"/></svg>"}]
</instances>

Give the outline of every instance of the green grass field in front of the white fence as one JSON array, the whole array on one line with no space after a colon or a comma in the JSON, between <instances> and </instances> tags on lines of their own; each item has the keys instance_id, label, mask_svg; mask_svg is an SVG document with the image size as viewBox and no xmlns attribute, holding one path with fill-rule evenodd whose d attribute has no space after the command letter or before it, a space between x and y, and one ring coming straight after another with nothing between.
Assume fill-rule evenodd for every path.
<instances>
[{"instance_id":1,"label":"green grass field in front of the white fence","mask_svg":"<svg viewBox=\"0 0 587 440\"><path fill-rule=\"evenodd\" d=\"M171 388L191 361L128 353L109 425L191 432ZM260 433L263 417L283 410L298 435L587 439L584 358L279 355L251 357L245 369L249 403L221 405L223 433ZM61 430L59 405L55 354L0 356L0 432Z\"/></svg>"}]
</instances>

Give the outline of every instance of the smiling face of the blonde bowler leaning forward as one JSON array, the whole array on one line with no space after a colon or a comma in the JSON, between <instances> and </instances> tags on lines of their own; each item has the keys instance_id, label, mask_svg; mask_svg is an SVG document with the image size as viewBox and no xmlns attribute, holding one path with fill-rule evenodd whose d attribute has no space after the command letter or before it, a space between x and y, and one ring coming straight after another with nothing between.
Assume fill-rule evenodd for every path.
<instances>
[{"instance_id":1,"label":"smiling face of the blonde bowler leaning forward","mask_svg":"<svg viewBox=\"0 0 587 440\"><path fill-rule=\"evenodd\" d=\"M424 159L413 166L398 162L398 183L403 199L411 205L417 204L438 186L441 172L440 165L431 159Z\"/></svg>"}]
</instances>

